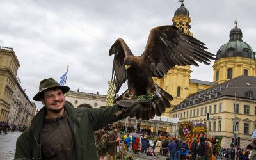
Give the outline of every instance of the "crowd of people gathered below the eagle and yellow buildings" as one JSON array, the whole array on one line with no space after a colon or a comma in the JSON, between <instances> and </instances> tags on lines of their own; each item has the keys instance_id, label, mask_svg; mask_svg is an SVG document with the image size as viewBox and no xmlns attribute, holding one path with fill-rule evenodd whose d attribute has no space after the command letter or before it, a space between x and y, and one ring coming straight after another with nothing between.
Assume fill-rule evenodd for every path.
<instances>
[{"instance_id":1,"label":"crowd of people gathered below the eagle and yellow buildings","mask_svg":"<svg viewBox=\"0 0 256 160\"><path fill-rule=\"evenodd\" d=\"M186 140L178 140L171 137L167 132L162 132L159 137L154 139L154 132L148 129L138 129L137 133L134 133L136 129L130 126L127 127L127 132L124 132L124 126L119 125L119 139L116 141L116 147L120 146L124 148L124 152L132 152L132 154L147 153L148 156L159 155L167 156L170 160L214 160L214 159L230 159L230 160L256 160L252 159L253 150L255 150L256 145L253 145L241 149L237 148L220 148L220 151L216 152L214 145L210 141L205 141L205 138L200 137L200 142L197 142L197 138L193 138L193 142L189 146ZM111 125L108 125L102 130L95 132L95 141L97 144L102 143L104 138L111 134ZM101 142L100 142L101 141ZM255 143L255 142L254 142ZM152 144L152 149L150 148ZM99 145L98 145L99 146ZM249 145L250 146L250 145ZM108 145L106 144L106 148ZM150 150L151 149L151 150ZM106 150L106 149L103 149ZM107 149L108 150L108 149ZM98 147L99 156L104 159L108 152L102 152L100 147ZM255 154L255 153L254 153ZM251 157L251 158L250 158Z\"/></svg>"}]
</instances>

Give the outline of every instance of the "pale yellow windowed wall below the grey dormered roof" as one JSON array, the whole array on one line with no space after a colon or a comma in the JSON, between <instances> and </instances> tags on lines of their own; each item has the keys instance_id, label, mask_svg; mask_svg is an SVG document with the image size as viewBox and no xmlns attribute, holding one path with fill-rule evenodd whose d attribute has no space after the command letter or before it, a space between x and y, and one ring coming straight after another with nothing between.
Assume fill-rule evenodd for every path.
<instances>
[{"instance_id":1,"label":"pale yellow windowed wall below the grey dormered roof","mask_svg":"<svg viewBox=\"0 0 256 160\"><path fill-rule=\"evenodd\" d=\"M209 127L209 122L211 122L211 131L209 133L213 135L223 135L223 147L229 147L233 133L233 122L231 121L234 118L233 104L235 100L234 97L220 97L218 99L209 100L207 102L201 102L200 104L195 104L193 106L189 106L187 108L182 108L179 110L172 111L170 113L171 117L180 118L182 113L182 118L180 118L180 122L184 120L192 120L196 123L198 122L206 122L207 127ZM255 119L255 100L246 100L246 99L236 99L236 103L239 104L239 114L236 114L236 120L239 118L241 120L237 120L239 122L238 136L241 138L241 147L246 148L246 145L249 144L249 141L252 138L252 131L255 129L256 119ZM214 104L216 104L216 113L214 113ZM219 106L222 106L221 112L219 110ZM244 115L244 105L250 106L250 114ZM205 116L205 107L207 107L207 112L209 112L209 106L212 106L212 113L210 115L211 120L207 121ZM203 114L201 115L201 108L203 108ZM193 116L193 111L196 111L195 116ZM197 109L199 109L199 115L197 116ZM189 116L187 117L187 111ZM192 111L192 116L190 116L190 111ZM184 117L185 112L185 117ZM177 116L175 116L177 115ZM224 119L228 118L230 120ZM249 119L246 121L245 119ZM213 131L213 122L216 122L216 131ZM218 122L221 121L221 131L218 130ZM249 134L244 134L244 123L249 124ZM170 133L178 129L178 126L173 126L170 128Z\"/></svg>"}]
</instances>

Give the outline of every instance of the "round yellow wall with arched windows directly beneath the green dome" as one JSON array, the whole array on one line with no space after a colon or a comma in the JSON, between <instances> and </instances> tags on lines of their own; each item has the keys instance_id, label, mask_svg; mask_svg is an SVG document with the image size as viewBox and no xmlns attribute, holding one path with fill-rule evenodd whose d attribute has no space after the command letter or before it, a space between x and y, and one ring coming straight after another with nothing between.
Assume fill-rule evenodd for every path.
<instances>
[{"instance_id":1,"label":"round yellow wall with arched windows directly beneath the green dome","mask_svg":"<svg viewBox=\"0 0 256 160\"><path fill-rule=\"evenodd\" d=\"M238 77L243 75L243 70L248 70L248 76L255 76L255 67L256 63L254 60L250 58L242 58L242 57L230 57L230 58L220 58L216 60L213 65L214 83L223 83L229 79L227 79L227 69L233 69L233 77ZM219 80L216 81L216 71L219 70Z\"/></svg>"}]
</instances>

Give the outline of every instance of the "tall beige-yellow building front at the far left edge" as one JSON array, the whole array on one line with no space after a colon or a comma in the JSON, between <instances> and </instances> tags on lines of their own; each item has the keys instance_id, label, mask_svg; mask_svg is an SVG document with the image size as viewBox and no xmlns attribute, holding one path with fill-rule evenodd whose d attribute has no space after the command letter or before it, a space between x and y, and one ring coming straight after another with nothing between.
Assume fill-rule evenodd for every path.
<instances>
[{"instance_id":1,"label":"tall beige-yellow building front at the far left edge","mask_svg":"<svg viewBox=\"0 0 256 160\"><path fill-rule=\"evenodd\" d=\"M13 49L0 47L0 121L8 120L19 66Z\"/></svg>"}]
</instances>

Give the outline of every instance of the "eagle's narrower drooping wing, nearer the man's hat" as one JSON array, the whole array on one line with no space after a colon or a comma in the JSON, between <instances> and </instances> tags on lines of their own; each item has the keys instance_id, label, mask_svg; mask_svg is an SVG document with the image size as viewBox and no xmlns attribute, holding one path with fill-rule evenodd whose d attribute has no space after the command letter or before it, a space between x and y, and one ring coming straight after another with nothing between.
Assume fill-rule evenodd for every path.
<instances>
[{"instance_id":1,"label":"eagle's narrower drooping wing, nearer the man's hat","mask_svg":"<svg viewBox=\"0 0 256 160\"><path fill-rule=\"evenodd\" d=\"M120 90L122 84L125 83L125 81L127 80L127 73L124 68L124 58L125 56L129 55L133 56L133 54L122 38L118 38L109 49L109 56L113 54L114 60L111 80L114 83L115 99L116 94Z\"/></svg>"}]
</instances>

